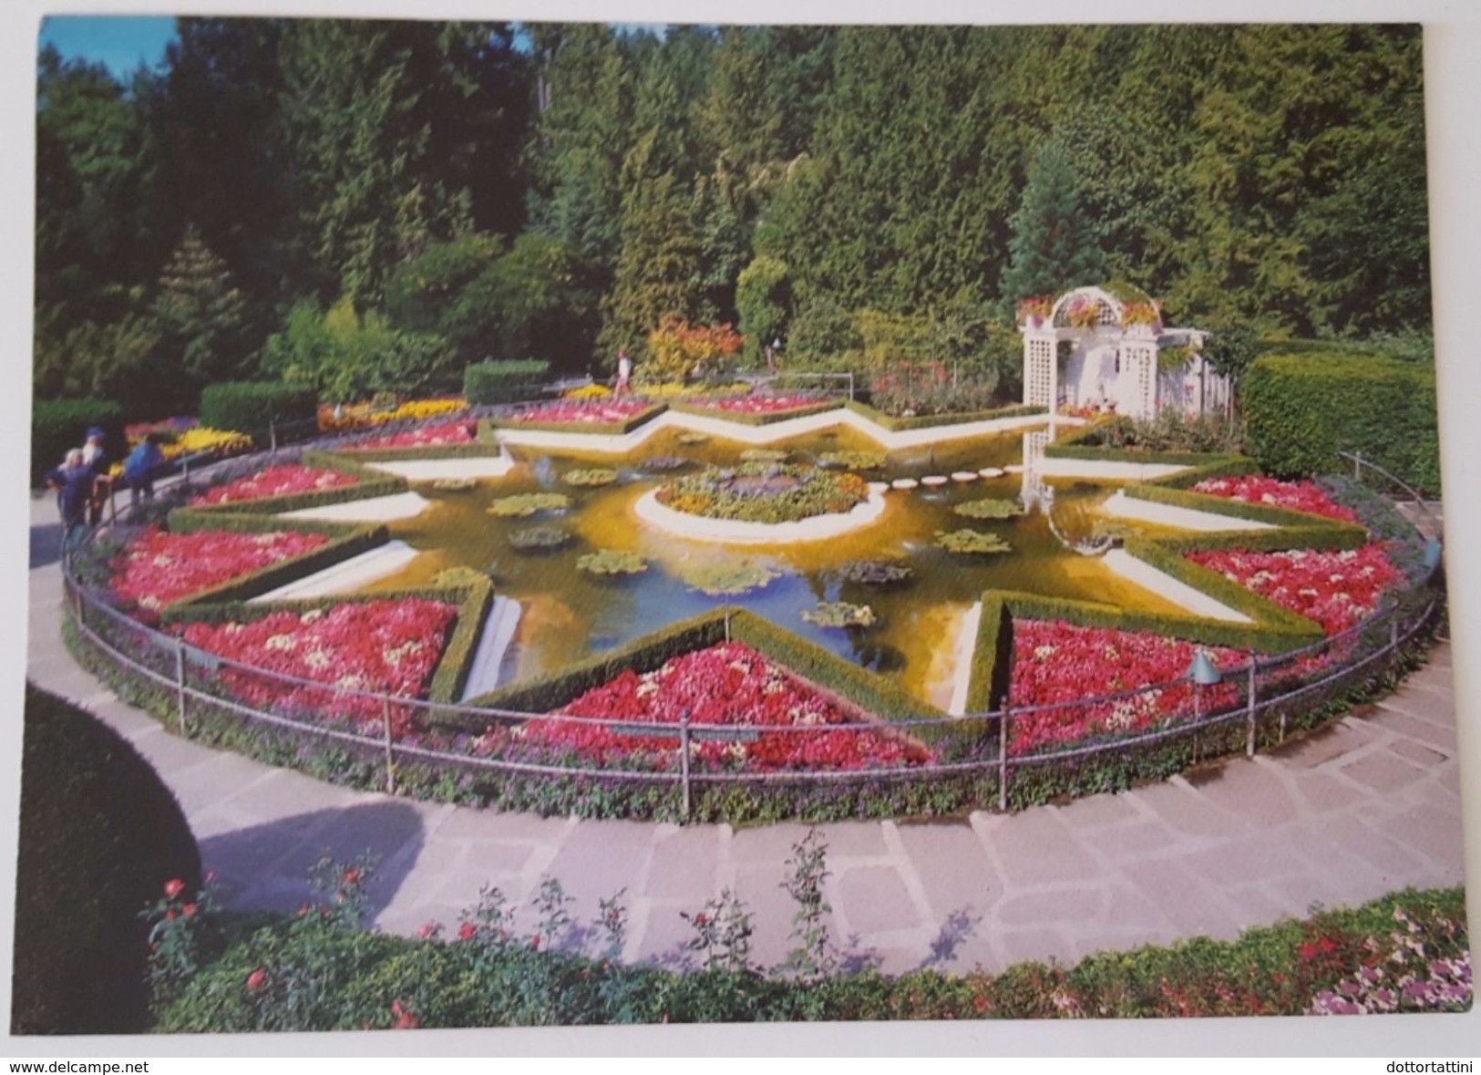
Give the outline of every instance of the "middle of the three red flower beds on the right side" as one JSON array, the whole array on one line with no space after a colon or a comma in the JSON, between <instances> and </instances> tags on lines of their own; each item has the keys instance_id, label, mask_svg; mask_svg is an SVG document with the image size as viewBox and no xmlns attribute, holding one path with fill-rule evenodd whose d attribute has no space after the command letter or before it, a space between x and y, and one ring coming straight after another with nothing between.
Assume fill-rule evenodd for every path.
<instances>
[{"instance_id":1,"label":"middle of the three red flower beds on the right side","mask_svg":"<svg viewBox=\"0 0 1481 1075\"><path fill-rule=\"evenodd\" d=\"M1348 552L1211 549L1186 555L1283 609L1317 620L1328 635L1371 613L1383 591L1400 580L1398 569L1377 543Z\"/></svg>"}]
</instances>

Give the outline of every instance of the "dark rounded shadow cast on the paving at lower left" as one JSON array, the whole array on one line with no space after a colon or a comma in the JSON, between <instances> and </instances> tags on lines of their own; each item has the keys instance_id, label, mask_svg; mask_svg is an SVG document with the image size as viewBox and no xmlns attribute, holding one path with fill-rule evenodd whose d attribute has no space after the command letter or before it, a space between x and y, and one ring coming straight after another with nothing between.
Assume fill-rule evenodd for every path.
<instances>
[{"instance_id":1,"label":"dark rounded shadow cast on the paving at lower left","mask_svg":"<svg viewBox=\"0 0 1481 1075\"><path fill-rule=\"evenodd\" d=\"M315 810L233 829L200 841L200 860L216 871L219 897L237 908L293 911L311 899L310 872L324 856L351 865L369 856L366 920L395 897L422 850L422 819L403 803Z\"/></svg>"}]
</instances>

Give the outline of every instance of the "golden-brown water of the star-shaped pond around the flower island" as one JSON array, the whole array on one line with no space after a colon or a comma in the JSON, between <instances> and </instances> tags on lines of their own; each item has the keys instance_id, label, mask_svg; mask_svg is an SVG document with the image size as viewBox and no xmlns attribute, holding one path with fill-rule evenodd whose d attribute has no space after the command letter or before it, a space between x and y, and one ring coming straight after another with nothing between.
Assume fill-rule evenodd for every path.
<instances>
[{"instance_id":1,"label":"golden-brown water of the star-shaped pond around the flower island","mask_svg":"<svg viewBox=\"0 0 1481 1075\"><path fill-rule=\"evenodd\" d=\"M1177 612L1151 591L1109 572L1097 558L1066 551L1038 514L1007 520L970 520L951 508L963 500L1016 500L1020 477L949 483L939 489L886 493L884 515L843 538L794 545L726 546L687 540L638 520L632 503L668 480L647 471L643 459L683 456L693 472L705 463L733 465L748 447L723 438L692 444L666 429L629 456L555 453L512 449L520 465L507 477L480 481L472 490L441 493L421 486L432 506L416 518L391 524L398 538L421 551L407 567L373 589L428 582L438 572L468 566L487 570L496 591L524 609L507 663L507 678L557 671L591 653L637 638L686 616L721 604L743 606L789 631L859 665L897 680L906 690L943 706L951 697L955 640L961 616L983 589L1023 589L1035 594ZM878 446L849 428L778 441L767 447L809 462L835 450L878 452ZM886 456L880 471L862 477L893 480L951 474L958 469L1006 466L1022 458L1017 432L948 441L933 449L906 449ZM607 466L616 484L578 489L560 477L569 469ZM487 514L499 496L561 492L572 508L558 517L498 518ZM1062 533L1084 536L1111 487L1059 484L1054 520ZM554 552L520 552L509 533L536 524L569 529L576 540ZM937 530L991 530L1013 546L1000 555L958 555L933 545ZM643 575L603 579L576 567L582 554L601 548L631 549L649 558ZM897 560L914 569L903 583L872 586L838 577L850 560ZM711 594L717 572L760 569L770 580L743 594ZM820 601L868 604L878 622L871 628L822 628L803 619ZM505 678L502 677L502 678ZM501 678L501 681L502 681Z\"/></svg>"}]
</instances>

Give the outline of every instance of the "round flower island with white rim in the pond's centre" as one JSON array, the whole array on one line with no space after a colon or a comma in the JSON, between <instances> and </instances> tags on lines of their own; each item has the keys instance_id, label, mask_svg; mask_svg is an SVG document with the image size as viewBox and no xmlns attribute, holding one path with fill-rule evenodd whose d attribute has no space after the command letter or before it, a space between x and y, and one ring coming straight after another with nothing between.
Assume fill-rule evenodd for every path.
<instances>
[{"instance_id":1,"label":"round flower island with white rim in the pond's centre","mask_svg":"<svg viewBox=\"0 0 1481 1075\"><path fill-rule=\"evenodd\" d=\"M729 543L823 540L884 514L857 474L782 462L709 466L638 498L638 518L678 538Z\"/></svg>"}]
</instances>

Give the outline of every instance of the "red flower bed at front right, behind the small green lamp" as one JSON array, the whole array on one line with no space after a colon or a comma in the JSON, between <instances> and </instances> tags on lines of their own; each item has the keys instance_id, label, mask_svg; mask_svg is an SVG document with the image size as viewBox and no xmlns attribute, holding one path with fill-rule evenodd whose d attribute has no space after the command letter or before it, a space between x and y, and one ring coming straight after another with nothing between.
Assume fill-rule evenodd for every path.
<instances>
[{"instance_id":1,"label":"red flower bed at front right, behind the small green lamp","mask_svg":"<svg viewBox=\"0 0 1481 1075\"><path fill-rule=\"evenodd\" d=\"M1014 714L1009 754L1074 743L1090 734L1131 734L1167 720L1194 715L1194 684L1182 681L1200 647L1148 631L1083 628L1062 620L1013 620L1013 706L1075 702L1086 696L1169 684L1154 691L1111 702L1065 705L1057 709ZM1246 663L1235 650L1208 649L1216 666ZM1177 680L1177 683L1171 683ZM1198 689L1198 706L1231 705L1238 687L1220 683Z\"/></svg>"}]
</instances>

